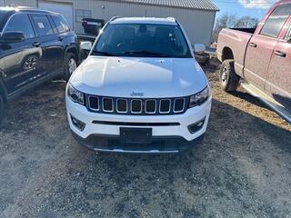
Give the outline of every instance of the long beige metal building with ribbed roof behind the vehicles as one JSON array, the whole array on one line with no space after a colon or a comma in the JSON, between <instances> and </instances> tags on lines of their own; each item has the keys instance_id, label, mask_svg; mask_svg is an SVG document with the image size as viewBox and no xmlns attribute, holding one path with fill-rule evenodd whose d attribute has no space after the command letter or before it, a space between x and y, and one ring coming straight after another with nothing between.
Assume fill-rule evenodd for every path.
<instances>
[{"instance_id":1,"label":"long beige metal building with ribbed roof behind the vehicles","mask_svg":"<svg viewBox=\"0 0 291 218\"><path fill-rule=\"evenodd\" d=\"M83 18L112 16L176 17L192 44L209 45L218 8L211 0L0 0L0 5L36 6L65 15L76 33Z\"/></svg>"}]
</instances>

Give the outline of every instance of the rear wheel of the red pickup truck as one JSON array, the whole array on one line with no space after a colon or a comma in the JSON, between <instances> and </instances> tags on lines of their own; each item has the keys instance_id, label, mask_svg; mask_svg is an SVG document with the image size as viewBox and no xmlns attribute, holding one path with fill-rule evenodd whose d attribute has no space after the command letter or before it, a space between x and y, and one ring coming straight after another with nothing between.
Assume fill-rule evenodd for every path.
<instances>
[{"instance_id":1,"label":"rear wheel of the red pickup truck","mask_svg":"<svg viewBox=\"0 0 291 218\"><path fill-rule=\"evenodd\" d=\"M240 77L235 71L235 61L226 60L221 64L219 80L221 88L226 92L235 91L238 87Z\"/></svg>"}]
</instances>

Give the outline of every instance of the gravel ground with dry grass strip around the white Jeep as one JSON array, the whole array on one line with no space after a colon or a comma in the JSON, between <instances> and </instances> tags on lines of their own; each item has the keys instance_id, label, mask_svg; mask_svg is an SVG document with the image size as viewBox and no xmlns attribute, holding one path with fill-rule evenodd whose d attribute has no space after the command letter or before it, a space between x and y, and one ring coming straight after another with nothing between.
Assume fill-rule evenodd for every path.
<instances>
[{"instance_id":1,"label":"gravel ground with dry grass strip around the white Jeep","mask_svg":"<svg viewBox=\"0 0 291 218\"><path fill-rule=\"evenodd\" d=\"M75 143L65 84L8 105L0 217L291 217L291 125L243 90L220 91L206 139L184 154L94 154Z\"/></svg>"}]
</instances>

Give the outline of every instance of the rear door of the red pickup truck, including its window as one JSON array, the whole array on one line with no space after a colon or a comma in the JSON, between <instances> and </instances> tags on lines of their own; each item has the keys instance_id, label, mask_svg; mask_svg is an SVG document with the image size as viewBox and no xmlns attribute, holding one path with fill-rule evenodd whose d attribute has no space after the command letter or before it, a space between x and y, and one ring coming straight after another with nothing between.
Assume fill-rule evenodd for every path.
<instances>
[{"instance_id":1,"label":"rear door of the red pickup truck, including its window","mask_svg":"<svg viewBox=\"0 0 291 218\"><path fill-rule=\"evenodd\" d=\"M268 67L278 36L286 24L290 11L290 5L277 6L267 17L265 24L257 28L247 45L244 76L246 81L262 91L265 91Z\"/></svg>"}]
</instances>

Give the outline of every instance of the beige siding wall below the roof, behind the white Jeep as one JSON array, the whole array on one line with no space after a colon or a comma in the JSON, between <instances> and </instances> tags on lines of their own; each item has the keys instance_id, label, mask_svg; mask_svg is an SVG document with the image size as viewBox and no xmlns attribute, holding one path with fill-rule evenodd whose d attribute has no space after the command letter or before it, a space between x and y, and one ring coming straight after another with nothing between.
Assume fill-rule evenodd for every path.
<instances>
[{"instance_id":1,"label":"beige siding wall below the roof, behind the white Jeep","mask_svg":"<svg viewBox=\"0 0 291 218\"><path fill-rule=\"evenodd\" d=\"M209 45L215 22L215 11L174 7L136 5L98 0L74 0L75 9L91 10L92 17L108 21L112 16L173 16L184 26L192 44ZM74 11L75 17L75 11ZM75 31L83 33L81 23L75 22Z\"/></svg>"}]
</instances>

